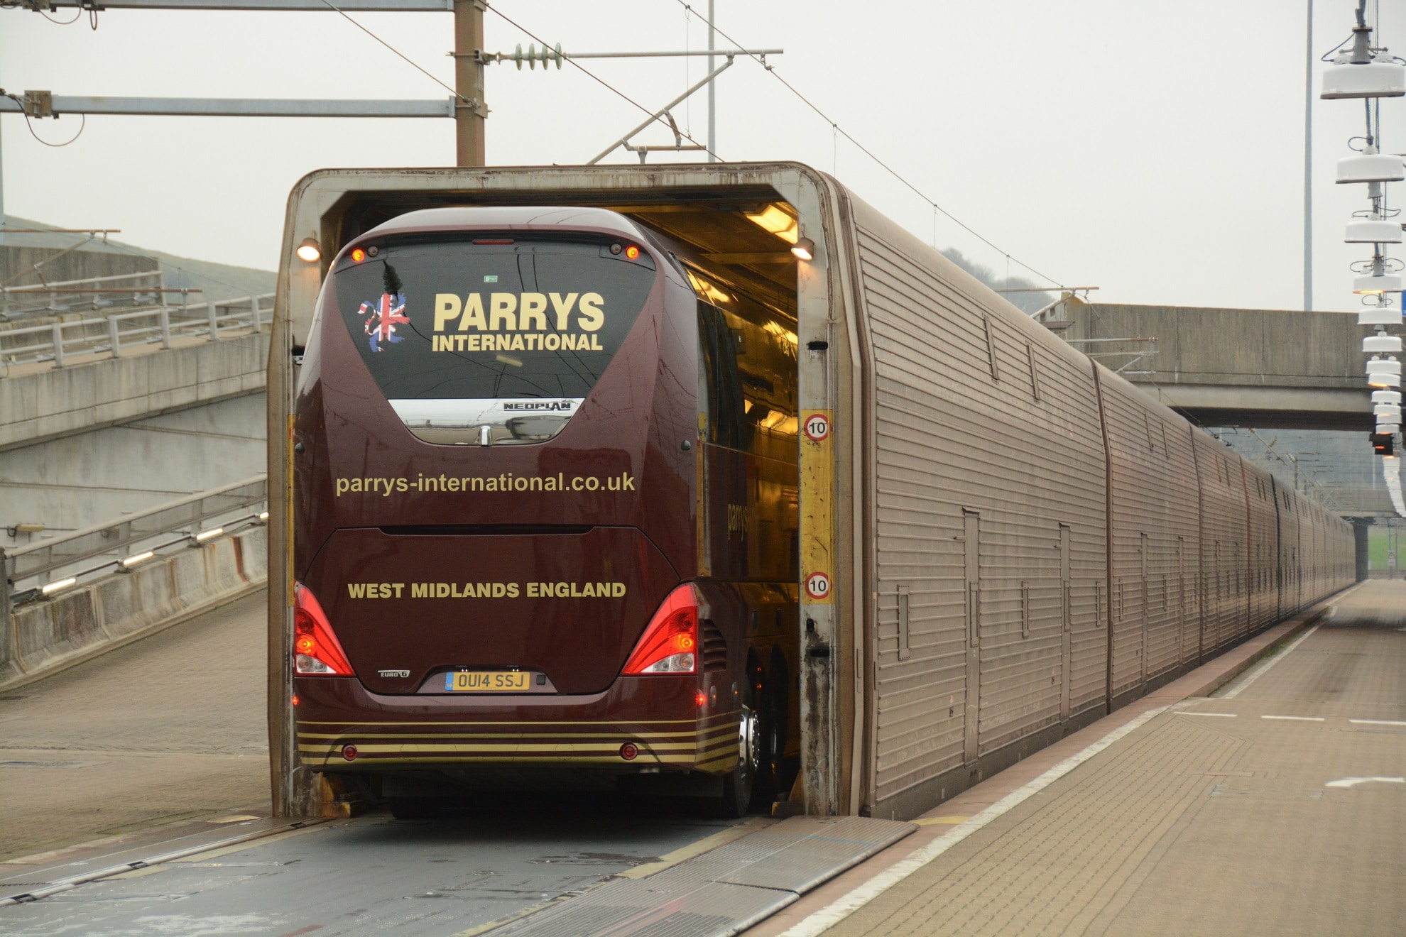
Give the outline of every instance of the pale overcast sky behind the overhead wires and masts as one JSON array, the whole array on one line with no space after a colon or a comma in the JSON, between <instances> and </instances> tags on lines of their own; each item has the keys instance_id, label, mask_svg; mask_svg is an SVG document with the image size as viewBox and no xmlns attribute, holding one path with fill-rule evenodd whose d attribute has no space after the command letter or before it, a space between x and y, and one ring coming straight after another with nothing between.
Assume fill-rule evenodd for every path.
<instances>
[{"instance_id":1,"label":"pale overcast sky behind the overhead wires and masts","mask_svg":"<svg viewBox=\"0 0 1406 937\"><path fill-rule=\"evenodd\" d=\"M1369 3L1369 8L1375 4ZM706 10L706 0L696 6ZM1382 38L1406 52L1406 4ZM1351 0L1315 4L1315 58L1348 35ZM706 45L676 0L494 0L567 52ZM72 10L51 14L73 17ZM356 14L453 84L453 18ZM1101 302L1301 308L1302 0L718 0L721 30L785 48L776 72L946 211ZM531 39L489 11L489 51ZM718 38L718 44L724 41ZM700 59L585 62L654 110ZM1316 73L1322 65L1315 65ZM488 70L491 164L581 163L644 114L569 65ZM1317 84L1315 74L1315 89ZM447 91L336 13L110 10L62 27L0 10L0 86L55 94L432 98ZM718 79L718 153L801 160L939 247L1004 273L1002 253L934 212L755 62ZM706 98L675 111L707 129ZM1406 101L1382 105L1385 149L1406 152ZM80 118L37 122L51 142ZM1334 163L1362 132L1355 101L1313 101L1315 305L1354 309L1341 243L1365 205ZM0 118L4 207L62 226L121 228L129 243L274 268L288 190L329 166L446 166L446 119L91 117L51 149ZM640 142L671 142L655 129ZM614 162L636 160L620 153ZM652 155L651 160L693 159ZM1406 188L1398 185L1398 201ZM1398 254L1402 251L1398 250ZM1012 275L1033 277L1018 263Z\"/></svg>"}]
</instances>

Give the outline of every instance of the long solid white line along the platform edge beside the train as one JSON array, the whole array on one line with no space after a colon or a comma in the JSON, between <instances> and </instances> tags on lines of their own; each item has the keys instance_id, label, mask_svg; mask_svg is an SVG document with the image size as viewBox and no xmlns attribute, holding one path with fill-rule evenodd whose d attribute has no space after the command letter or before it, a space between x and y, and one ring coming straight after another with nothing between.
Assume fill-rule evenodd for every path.
<instances>
[{"instance_id":1,"label":"long solid white line along the platform edge beside the train","mask_svg":"<svg viewBox=\"0 0 1406 937\"><path fill-rule=\"evenodd\" d=\"M1025 787L1011 791L1000 801L986 808L967 822L953 826L952 830L945 836L939 836L938 839L932 840L922 848L914 851L907 858L894 863L884 871L879 872L868 882L851 889L848 895L842 895L841 898L831 902L825 907L821 907L813 915L796 922L792 927L783 931L780 937L815 937L817 934L830 930L831 927L838 924L841 920L852 915L859 907L863 907L875 898L879 898L879 895L884 893L903 879L908 878L908 875L912 875L920 868L922 868L936 857L942 856L943 853L946 853L949 848L952 848L966 837L972 836L972 833L976 833L979 829L981 829L991 820L997 819L1002 813L1025 802L1035 794L1039 794L1046 787L1060 780L1062 777L1077 768L1084 761L1088 761L1091 757L1094 757L1112 743L1122 739L1125 735L1135 732L1143 723L1166 712L1167 708L1168 707L1157 707L1154 709L1149 709L1147 712L1143 712L1140 716L1132 719L1130 722L1114 729L1098 742L1094 742L1083 752L1071 754L1070 757L1064 759L1063 761L1060 761L1059 764L1056 764L1049 771L1039 775Z\"/></svg>"}]
</instances>

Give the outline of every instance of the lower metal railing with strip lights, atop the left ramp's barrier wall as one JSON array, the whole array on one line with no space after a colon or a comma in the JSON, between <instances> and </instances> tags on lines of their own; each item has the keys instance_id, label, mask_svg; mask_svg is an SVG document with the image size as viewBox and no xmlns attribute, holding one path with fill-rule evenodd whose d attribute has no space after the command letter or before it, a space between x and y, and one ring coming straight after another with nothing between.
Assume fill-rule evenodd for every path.
<instances>
[{"instance_id":1,"label":"lower metal railing with strip lights, atop the left ramp's barrier wall","mask_svg":"<svg viewBox=\"0 0 1406 937\"><path fill-rule=\"evenodd\" d=\"M13 601L41 593L51 582L129 569L135 563L124 561L131 561L134 555L155 555L177 544L201 542L201 534L215 527L228 532L232 527L262 521L267 507L269 476L254 475L124 514L115 521L24 546L6 546L0 549L4 559L0 582L3 611L8 612Z\"/></svg>"}]
</instances>

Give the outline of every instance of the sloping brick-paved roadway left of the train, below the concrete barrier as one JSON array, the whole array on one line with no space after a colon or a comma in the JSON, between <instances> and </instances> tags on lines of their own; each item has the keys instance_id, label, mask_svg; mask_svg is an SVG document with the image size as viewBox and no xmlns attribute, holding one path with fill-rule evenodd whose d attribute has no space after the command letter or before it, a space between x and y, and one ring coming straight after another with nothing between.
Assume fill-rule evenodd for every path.
<instances>
[{"instance_id":1,"label":"sloping brick-paved roadway left of the train, below the concrete barrier","mask_svg":"<svg viewBox=\"0 0 1406 937\"><path fill-rule=\"evenodd\" d=\"M0 694L0 863L266 816L264 603L247 596Z\"/></svg>"}]
</instances>

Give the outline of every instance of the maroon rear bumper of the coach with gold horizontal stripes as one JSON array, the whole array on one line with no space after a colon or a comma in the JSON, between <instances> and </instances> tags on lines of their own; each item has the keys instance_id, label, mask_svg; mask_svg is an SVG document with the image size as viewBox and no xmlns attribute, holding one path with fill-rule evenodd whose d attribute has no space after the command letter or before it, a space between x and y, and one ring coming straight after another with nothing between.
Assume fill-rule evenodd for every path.
<instances>
[{"instance_id":1,"label":"maroon rear bumper of the coach with gold horizontal stripes","mask_svg":"<svg viewBox=\"0 0 1406 937\"><path fill-rule=\"evenodd\" d=\"M356 677L297 677L294 726L301 763L315 771L481 764L721 774L737 764L740 712L721 677L623 676L589 695L382 695Z\"/></svg>"}]
</instances>

